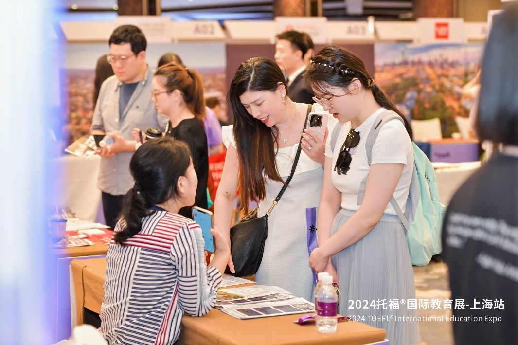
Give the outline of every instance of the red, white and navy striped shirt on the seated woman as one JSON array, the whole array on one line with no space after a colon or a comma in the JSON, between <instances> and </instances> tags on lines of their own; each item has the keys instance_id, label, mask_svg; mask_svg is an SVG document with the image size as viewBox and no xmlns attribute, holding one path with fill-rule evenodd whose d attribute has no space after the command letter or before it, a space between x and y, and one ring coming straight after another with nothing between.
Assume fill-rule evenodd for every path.
<instances>
[{"instance_id":1,"label":"red, white and navy striped shirt on the seated woman","mask_svg":"<svg viewBox=\"0 0 518 345\"><path fill-rule=\"evenodd\" d=\"M200 317L216 303L222 276L205 263L199 225L151 209L138 234L108 248L100 332L109 344L172 344L184 312Z\"/></svg>"}]
</instances>

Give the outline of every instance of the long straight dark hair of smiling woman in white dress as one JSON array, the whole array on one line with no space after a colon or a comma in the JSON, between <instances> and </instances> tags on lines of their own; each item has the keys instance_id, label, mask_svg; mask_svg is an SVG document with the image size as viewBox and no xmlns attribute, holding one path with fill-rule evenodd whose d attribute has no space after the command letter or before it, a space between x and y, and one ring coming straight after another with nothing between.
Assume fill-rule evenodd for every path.
<instances>
[{"instance_id":1,"label":"long straight dark hair of smiling woman in white dress","mask_svg":"<svg viewBox=\"0 0 518 345\"><path fill-rule=\"evenodd\" d=\"M284 181L275 161L275 142L279 138L277 127L268 127L250 116L239 96L247 91L275 92L280 84L284 84L287 98L286 80L279 66L265 57L254 57L239 66L228 90L227 103L234 112L238 183L244 210L248 209L249 200L260 202L266 196L263 171L273 181Z\"/></svg>"}]
</instances>

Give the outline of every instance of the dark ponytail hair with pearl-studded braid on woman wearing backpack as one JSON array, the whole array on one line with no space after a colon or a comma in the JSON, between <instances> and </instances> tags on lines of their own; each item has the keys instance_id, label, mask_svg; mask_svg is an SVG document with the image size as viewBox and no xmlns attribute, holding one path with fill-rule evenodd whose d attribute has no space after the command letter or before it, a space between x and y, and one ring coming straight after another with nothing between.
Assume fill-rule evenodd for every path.
<instances>
[{"instance_id":1,"label":"dark ponytail hair with pearl-studded braid on woman wearing backpack","mask_svg":"<svg viewBox=\"0 0 518 345\"><path fill-rule=\"evenodd\" d=\"M311 63L304 74L313 90L328 94L327 86L347 88L353 79L358 79L365 90L370 90L376 102L382 107L396 112L405 121L405 128L413 138L412 127L407 118L397 109L392 100L380 89L369 76L362 59L347 49L326 46L311 57Z\"/></svg>"}]
</instances>

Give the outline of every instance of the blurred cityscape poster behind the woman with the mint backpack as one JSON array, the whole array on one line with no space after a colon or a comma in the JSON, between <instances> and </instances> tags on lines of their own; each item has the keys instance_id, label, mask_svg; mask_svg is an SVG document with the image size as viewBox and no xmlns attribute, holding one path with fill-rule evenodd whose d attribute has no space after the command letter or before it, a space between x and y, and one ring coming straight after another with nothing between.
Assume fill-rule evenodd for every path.
<instances>
[{"instance_id":1,"label":"blurred cityscape poster behind the woman with the mint backpack","mask_svg":"<svg viewBox=\"0 0 518 345\"><path fill-rule=\"evenodd\" d=\"M439 118L442 136L451 137L455 117L467 117L473 104L461 90L477 74L483 49L483 43L377 43L374 79L409 120Z\"/></svg>"}]
</instances>

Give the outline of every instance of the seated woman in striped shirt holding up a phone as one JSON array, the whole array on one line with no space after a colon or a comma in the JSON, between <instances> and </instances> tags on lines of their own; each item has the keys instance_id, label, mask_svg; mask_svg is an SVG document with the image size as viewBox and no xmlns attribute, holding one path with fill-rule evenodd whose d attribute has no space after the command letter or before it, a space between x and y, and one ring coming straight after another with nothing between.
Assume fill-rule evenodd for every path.
<instances>
[{"instance_id":1,"label":"seated woman in striped shirt holding up a phone","mask_svg":"<svg viewBox=\"0 0 518 345\"><path fill-rule=\"evenodd\" d=\"M217 249L207 266L199 225L178 214L197 186L186 143L149 140L130 170L135 185L106 256L100 331L109 344L172 344L184 311L200 317L214 306L230 250L212 229Z\"/></svg>"}]
</instances>

